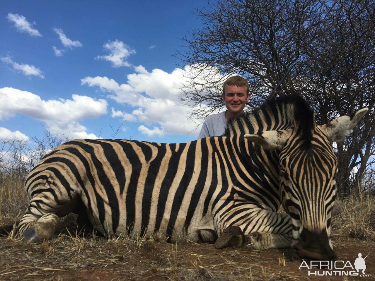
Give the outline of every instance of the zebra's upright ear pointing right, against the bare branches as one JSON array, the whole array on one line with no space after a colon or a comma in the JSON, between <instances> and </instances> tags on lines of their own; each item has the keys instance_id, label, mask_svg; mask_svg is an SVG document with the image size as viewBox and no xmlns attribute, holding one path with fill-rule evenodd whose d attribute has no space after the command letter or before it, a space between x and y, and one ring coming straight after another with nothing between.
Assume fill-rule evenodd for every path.
<instances>
[{"instance_id":1,"label":"zebra's upright ear pointing right, against the bare branches","mask_svg":"<svg viewBox=\"0 0 375 281\"><path fill-rule=\"evenodd\" d=\"M319 127L326 132L331 142L340 141L350 134L351 129L357 126L368 110L368 108L362 108L351 115L341 116Z\"/></svg>"}]
</instances>

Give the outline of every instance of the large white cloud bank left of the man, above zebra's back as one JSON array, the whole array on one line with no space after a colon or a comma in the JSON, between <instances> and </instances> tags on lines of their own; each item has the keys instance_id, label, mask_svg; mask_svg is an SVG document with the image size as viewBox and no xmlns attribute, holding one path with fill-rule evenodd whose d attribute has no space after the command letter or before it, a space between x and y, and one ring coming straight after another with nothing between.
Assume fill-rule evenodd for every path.
<instances>
[{"instance_id":1,"label":"large white cloud bank left of the man, above zebra's back","mask_svg":"<svg viewBox=\"0 0 375 281\"><path fill-rule=\"evenodd\" d=\"M121 117L124 120L126 114L130 121L129 116L132 115L139 122L153 126L153 129L144 125L138 128L145 135L186 135L191 131L193 132L190 135L198 135L200 127L196 129L196 123L188 119L191 108L182 104L178 99L180 88L186 82L186 76L189 76L192 68L176 68L171 73L161 69L148 72L143 66L137 66L135 70L137 73L127 75L127 84L118 84L114 79L100 76L86 77L81 79L81 82L90 87L99 87L117 103L125 103L134 107L131 113L113 110L112 117ZM208 72L201 73L205 79L208 74ZM218 77L213 77L213 79L218 79Z\"/></svg>"}]
</instances>

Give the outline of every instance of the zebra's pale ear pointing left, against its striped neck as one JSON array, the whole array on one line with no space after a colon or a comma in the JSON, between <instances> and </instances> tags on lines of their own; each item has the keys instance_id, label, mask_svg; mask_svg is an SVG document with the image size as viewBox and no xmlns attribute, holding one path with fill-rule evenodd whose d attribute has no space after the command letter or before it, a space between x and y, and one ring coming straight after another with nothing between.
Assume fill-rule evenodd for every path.
<instances>
[{"instance_id":1,"label":"zebra's pale ear pointing left, against its striped neck","mask_svg":"<svg viewBox=\"0 0 375 281\"><path fill-rule=\"evenodd\" d=\"M278 131L264 131L255 135L246 134L244 136L248 141L263 146L264 149L282 149L292 134L292 129Z\"/></svg>"}]
</instances>

